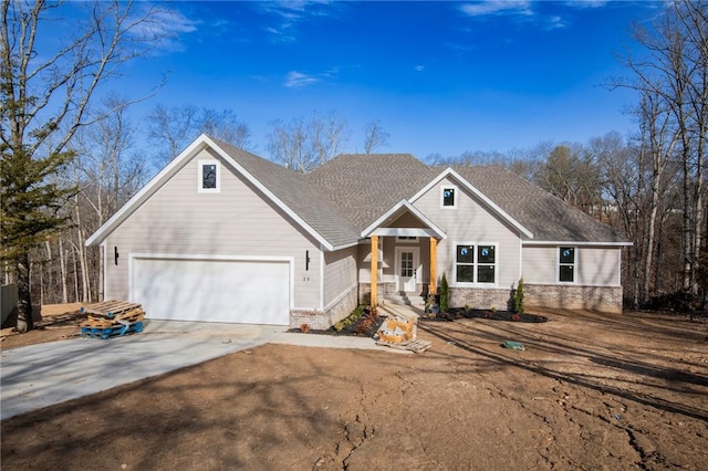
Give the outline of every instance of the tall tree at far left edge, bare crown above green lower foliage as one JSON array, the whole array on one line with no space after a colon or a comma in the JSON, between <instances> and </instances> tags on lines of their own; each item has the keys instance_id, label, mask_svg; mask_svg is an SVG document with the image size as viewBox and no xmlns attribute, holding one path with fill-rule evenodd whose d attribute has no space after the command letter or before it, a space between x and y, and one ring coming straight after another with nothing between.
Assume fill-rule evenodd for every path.
<instances>
[{"instance_id":1,"label":"tall tree at far left edge, bare crown above green lower foliage","mask_svg":"<svg viewBox=\"0 0 708 471\"><path fill-rule=\"evenodd\" d=\"M66 146L82 126L100 116L88 105L100 85L121 65L143 56L164 34L156 9L137 14L132 2L96 1L76 33L38 51L59 3L2 0L0 3L0 140L2 165L2 259L18 282L18 331L33 327L30 253L60 228L60 210L74 193L51 175L67 165Z\"/></svg>"}]
</instances>

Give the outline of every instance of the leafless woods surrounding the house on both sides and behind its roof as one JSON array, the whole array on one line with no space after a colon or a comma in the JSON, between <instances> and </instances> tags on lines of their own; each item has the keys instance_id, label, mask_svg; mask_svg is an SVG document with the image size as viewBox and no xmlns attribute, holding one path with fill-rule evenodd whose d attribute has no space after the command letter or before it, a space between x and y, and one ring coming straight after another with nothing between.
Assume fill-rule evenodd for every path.
<instances>
[{"instance_id":1,"label":"leafless woods surrounding the house on both sides and behind its roof","mask_svg":"<svg viewBox=\"0 0 708 471\"><path fill-rule=\"evenodd\" d=\"M88 303L103 297L102 257L85 240L159 168L200 133L244 149L253 145L248 124L231 109L157 105L131 121L126 109L147 97L95 93L119 66L144 60L149 44L167 34L152 29L149 36L136 38L132 30L154 22L158 10L136 20L132 3L96 2L83 25L86 33L55 55L43 53L52 59L38 65L29 60L32 36L50 7L2 2L3 281L19 281L35 303ZM636 28L633 41L641 53L621 59L626 77L604 84L636 92L627 111L636 121L629 135L608 129L586 143L543 142L508 153L425 160L504 166L612 226L634 242L623 255L628 306L705 308L708 8L702 1L670 3L654 23ZM66 102L56 108L58 100ZM138 129L148 129L149 148L139 146ZM354 138L371 154L387 150L388 137L373 121ZM263 157L306 172L350 139L344 116L313 112L269 123Z\"/></svg>"}]
</instances>

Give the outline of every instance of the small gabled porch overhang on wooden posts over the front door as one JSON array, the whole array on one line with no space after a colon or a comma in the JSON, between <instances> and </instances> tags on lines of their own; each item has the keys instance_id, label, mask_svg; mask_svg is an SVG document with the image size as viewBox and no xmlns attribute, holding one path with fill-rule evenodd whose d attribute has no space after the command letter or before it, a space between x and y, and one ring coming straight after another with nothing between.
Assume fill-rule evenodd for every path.
<instances>
[{"instance_id":1,"label":"small gabled porch overhang on wooden posts over the front door","mask_svg":"<svg viewBox=\"0 0 708 471\"><path fill-rule=\"evenodd\" d=\"M413 214L419 222L420 227L392 228L394 221L405 213ZM427 237L430 239L430 285L428 293L437 292L437 242L439 239L447 238L445 231L438 228L423 212L406 200L402 200L384 214L381 216L373 224L362 231L363 238L372 240L372 292L371 304L378 304L378 238L379 237Z\"/></svg>"}]
</instances>

